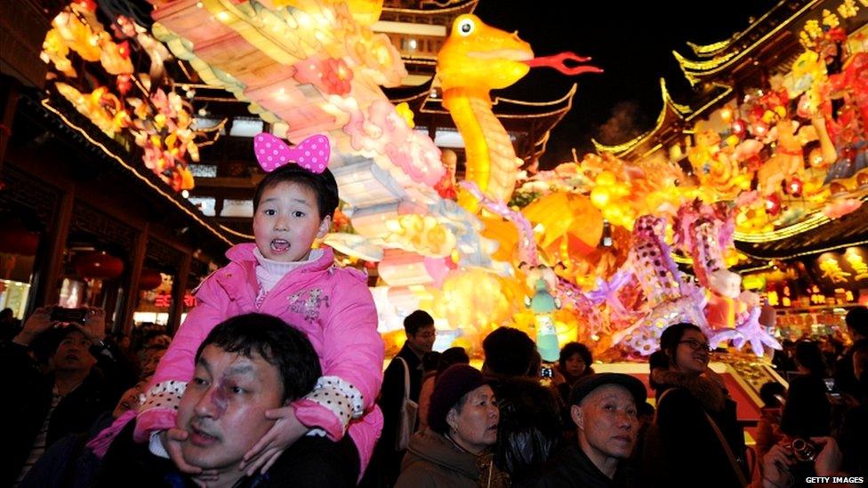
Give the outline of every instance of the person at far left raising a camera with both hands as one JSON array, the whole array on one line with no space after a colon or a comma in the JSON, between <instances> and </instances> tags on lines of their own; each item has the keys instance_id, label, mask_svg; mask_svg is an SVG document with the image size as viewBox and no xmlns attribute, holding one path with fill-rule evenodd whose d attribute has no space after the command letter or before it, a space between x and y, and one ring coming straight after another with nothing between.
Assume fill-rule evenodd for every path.
<instances>
[{"instance_id":1,"label":"person at far left raising a camera with both hands","mask_svg":"<svg viewBox=\"0 0 868 488\"><path fill-rule=\"evenodd\" d=\"M0 484L20 481L45 449L84 433L133 386L130 367L106 339L101 308L37 308L11 341L0 344L0 372L12 401L0 418L12 453ZM40 364L44 360L44 364Z\"/></svg>"}]
</instances>

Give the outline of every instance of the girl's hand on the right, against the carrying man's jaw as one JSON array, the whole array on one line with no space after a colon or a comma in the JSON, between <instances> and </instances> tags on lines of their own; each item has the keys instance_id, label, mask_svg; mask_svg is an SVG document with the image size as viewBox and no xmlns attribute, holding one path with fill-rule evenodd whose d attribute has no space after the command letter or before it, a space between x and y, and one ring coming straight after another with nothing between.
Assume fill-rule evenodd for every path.
<instances>
[{"instance_id":1,"label":"girl's hand on the right, against the carrying man's jaw","mask_svg":"<svg viewBox=\"0 0 868 488\"><path fill-rule=\"evenodd\" d=\"M260 469L262 473L268 471L287 447L295 444L295 441L310 430L295 417L292 406L268 410L265 417L275 422L241 460L239 468L246 469L247 476L253 476L253 473Z\"/></svg>"}]
</instances>

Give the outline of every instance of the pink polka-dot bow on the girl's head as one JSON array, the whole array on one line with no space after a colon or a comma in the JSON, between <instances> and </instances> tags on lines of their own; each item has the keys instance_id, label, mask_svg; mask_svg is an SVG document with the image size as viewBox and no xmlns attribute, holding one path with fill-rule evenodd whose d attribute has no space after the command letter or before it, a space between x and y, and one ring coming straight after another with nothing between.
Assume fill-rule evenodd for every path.
<instances>
[{"instance_id":1,"label":"pink polka-dot bow on the girl's head","mask_svg":"<svg viewBox=\"0 0 868 488\"><path fill-rule=\"evenodd\" d=\"M290 148L280 138L262 132L253 138L253 152L265 172L273 172L280 166L295 163L309 172L319 174L325 171L331 148L324 135L310 136L298 146Z\"/></svg>"}]
</instances>

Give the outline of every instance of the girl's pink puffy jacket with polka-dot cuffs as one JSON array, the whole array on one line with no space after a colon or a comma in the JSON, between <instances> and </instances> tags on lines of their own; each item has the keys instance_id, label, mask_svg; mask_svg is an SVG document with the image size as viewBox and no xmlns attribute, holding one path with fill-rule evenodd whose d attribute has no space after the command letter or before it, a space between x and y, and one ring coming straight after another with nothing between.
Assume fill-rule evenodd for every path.
<instances>
[{"instance_id":1,"label":"girl's pink puffy jacket with polka-dot cuffs","mask_svg":"<svg viewBox=\"0 0 868 488\"><path fill-rule=\"evenodd\" d=\"M304 425L333 440L350 432L364 472L382 430L382 412L374 403L382 385L384 345L377 332L377 311L366 276L334 266L334 253L287 273L256 306L255 244L237 244L226 252L231 262L208 276L196 292L193 308L157 367L142 405L136 440L173 428L175 406L192 379L197 348L208 332L230 316L249 312L284 319L304 332L319 355L323 377L308 396L293 403ZM327 398L343 396L342 407Z\"/></svg>"}]
</instances>

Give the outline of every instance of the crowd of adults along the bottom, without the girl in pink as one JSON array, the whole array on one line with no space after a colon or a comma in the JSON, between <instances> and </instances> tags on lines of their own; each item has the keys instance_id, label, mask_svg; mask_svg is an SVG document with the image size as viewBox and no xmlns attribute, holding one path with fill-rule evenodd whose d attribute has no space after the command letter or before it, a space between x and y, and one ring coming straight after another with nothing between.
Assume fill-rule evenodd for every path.
<instances>
[{"instance_id":1,"label":"crowd of adults along the bottom, without the girl in pink","mask_svg":"<svg viewBox=\"0 0 868 488\"><path fill-rule=\"evenodd\" d=\"M249 453L278 425L281 409L322 389L322 358L302 328L262 313L216 324L193 351L172 427L141 442L135 432L172 338L144 326L132 340L117 340L106 335L100 308L75 323L39 308L0 344L17 392L3 407L13 447L3 483L554 488L702 480L779 488L837 479L855 486L868 460L868 308L851 309L847 324L853 343L833 364L816 342L794 344L793 369L781 372L788 388L760 388L764 405L748 446L694 324L669 326L649 357L652 406L640 380L594 372L590 349L579 343L561 349L548 380L534 341L510 327L483 341L478 370L463 348L432 351L434 320L417 310L406 316L406 342L374 396L384 422L370 463L362 464L351 436L304 435L268 466L249 469ZM420 408L402 445L406 398ZM180 461L161 445L164 435Z\"/></svg>"}]
</instances>

